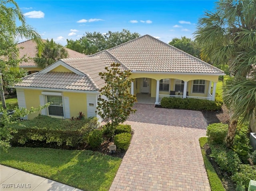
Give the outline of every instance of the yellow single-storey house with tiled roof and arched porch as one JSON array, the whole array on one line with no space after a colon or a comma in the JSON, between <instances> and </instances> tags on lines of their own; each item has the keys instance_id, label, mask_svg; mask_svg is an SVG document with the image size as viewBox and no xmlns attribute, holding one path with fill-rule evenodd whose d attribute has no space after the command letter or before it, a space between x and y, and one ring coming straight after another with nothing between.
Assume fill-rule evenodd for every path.
<instances>
[{"instance_id":1,"label":"yellow single-storey house with tiled roof and arched porch","mask_svg":"<svg viewBox=\"0 0 256 191\"><path fill-rule=\"evenodd\" d=\"M160 104L165 96L214 100L218 77L224 75L222 70L144 35L89 57L60 59L24 77L15 85L19 107L52 102L41 114L70 118L82 111L86 117L95 116L99 90L104 86L98 73L113 62L132 71L130 93L142 100L150 98L153 104Z\"/></svg>"}]
</instances>

